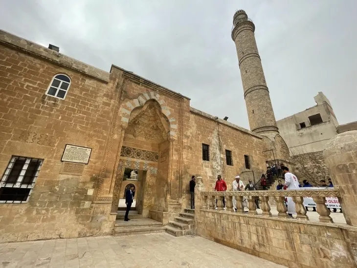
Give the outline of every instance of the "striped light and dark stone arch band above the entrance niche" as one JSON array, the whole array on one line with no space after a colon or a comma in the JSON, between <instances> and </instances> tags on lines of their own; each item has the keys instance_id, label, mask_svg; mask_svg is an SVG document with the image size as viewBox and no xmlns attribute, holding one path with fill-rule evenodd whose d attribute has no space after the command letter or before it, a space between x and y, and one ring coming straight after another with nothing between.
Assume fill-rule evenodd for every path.
<instances>
[{"instance_id":1,"label":"striped light and dark stone arch band above the entrance niche","mask_svg":"<svg viewBox=\"0 0 357 268\"><path fill-rule=\"evenodd\" d=\"M165 101L156 92L141 94L137 99L127 101L121 108L121 122L124 127L128 126L130 114L136 107L142 107L148 100L156 100L161 107L161 112L167 117L170 123L170 138L175 138L177 131L177 121L171 114L169 108L165 106Z\"/></svg>"}]
</instances>

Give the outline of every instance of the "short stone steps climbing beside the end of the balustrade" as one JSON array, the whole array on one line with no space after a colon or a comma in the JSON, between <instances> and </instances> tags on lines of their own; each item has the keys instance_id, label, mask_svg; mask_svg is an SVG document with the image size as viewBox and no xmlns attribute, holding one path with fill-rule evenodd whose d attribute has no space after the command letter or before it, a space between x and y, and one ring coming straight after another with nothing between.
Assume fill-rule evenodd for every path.
<instances>
[{"instance_id":1,"label":"short stone steps climbing beside the end of the balustrade","mask_svg":"<svg viewBox=\"0 0 357 268\"><path fill-rule=\"evenodd\" d=\"M166 232L174 236L192 235L195 233L195 210L185 208L185 212L181 212L179 217L175 217L175 221L170 221L165 227Z\"/></svg>"}]
</instances>

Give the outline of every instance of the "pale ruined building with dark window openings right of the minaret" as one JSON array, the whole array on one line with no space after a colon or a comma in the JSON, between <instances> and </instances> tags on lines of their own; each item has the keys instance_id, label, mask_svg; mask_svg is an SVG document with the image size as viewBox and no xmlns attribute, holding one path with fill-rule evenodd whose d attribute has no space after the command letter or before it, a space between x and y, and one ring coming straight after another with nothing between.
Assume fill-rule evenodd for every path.
<instances>
[{"instance_id":1,"label":"pale ruined building with dark window openings right of the minaret","mask_svg":"<svg viewBox=\"0 0 357 268\"><path fill-rule=\"evenodd\" d=\"M329 177L322 155L325 145L338 133L357 130L357 123L339 125L330 101L322 92L314 100L315 106L276 123L289 147L298 177L318 184L320 179Z\"/></svg>"}]
</instances>

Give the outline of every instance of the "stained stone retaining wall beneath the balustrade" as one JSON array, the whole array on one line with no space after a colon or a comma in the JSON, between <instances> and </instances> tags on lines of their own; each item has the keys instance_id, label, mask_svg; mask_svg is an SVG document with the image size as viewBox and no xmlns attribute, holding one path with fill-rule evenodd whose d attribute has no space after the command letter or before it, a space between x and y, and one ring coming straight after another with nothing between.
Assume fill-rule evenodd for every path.
<instances>
[{"instance_id":1,"label":"stained stone retaining wall beneath the balustrade","mask_svg":"<svg viewBox=\"0 0 357 268\"><path fill-rule=\"evenodd\" d=\"M347 225L196 209L195 226L196 235L291 268L357 265L357 229Z\"/></svg>"}]
</instances>

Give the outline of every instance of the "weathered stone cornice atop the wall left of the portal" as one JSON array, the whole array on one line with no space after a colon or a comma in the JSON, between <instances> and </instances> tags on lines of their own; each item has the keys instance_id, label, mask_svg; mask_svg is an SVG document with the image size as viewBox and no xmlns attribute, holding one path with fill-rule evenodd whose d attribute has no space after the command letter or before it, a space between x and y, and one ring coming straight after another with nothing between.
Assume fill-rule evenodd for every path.
<instances>
[{"instance_id":1,"label":"weathered stone cornice atop the wall left of the portal","mask_svg":"<svg viewBox=\"0 0 357 268\"><path fill-rule=\"evenodd\" d=\"M102 82L108 83L109 81L109 72L90 66L81 61L75 60L59 52L46 48L45 46L35 44L3 30L0 30L0 44L44 59L45 61L51 62L53 64L76 70L84 75L90 76Z\"/></svg>"}]
</instances>

